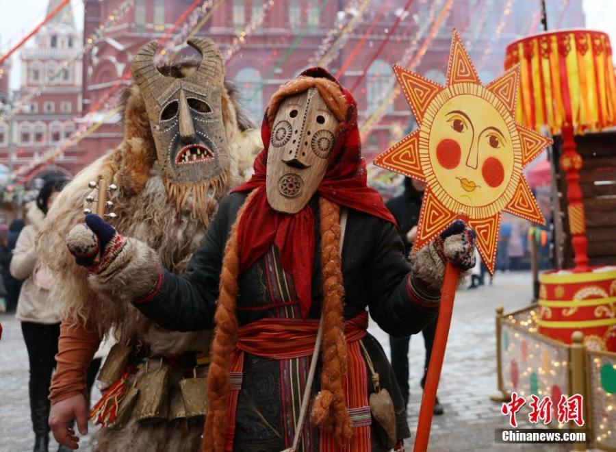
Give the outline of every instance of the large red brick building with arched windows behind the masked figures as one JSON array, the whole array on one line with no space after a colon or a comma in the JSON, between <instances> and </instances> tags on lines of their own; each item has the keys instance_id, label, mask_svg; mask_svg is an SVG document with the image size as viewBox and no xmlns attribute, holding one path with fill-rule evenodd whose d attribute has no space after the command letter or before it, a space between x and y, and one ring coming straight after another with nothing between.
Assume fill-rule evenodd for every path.
<instances>
[{"instance_id":1,"label":"large red brick building with arched windows behind the masked figures","mask_svg":"<svg viewBox=\"0 0 616 452\"><path fill-rule=\"evenodd\" d=\"M227 76L235 81L244 105L257 121L260 121L264 108L277 87L309 66L309 61L327 32L339 25L339 18L344 16L343 12L348 5L363 3L346 0L270 0L271 2L273 4L265 8L264 14L264 2L261 1L214 1L214 5L220 5L199 32L218 42L223 55L226 55L231 49L233 39L240 36L246 25L251 21L259 24L254 31L246 34L245 42L226 64ZM84 36L94 32L121 3L122 0L85 0ZM81 108L84 114L99 103L100 99L105 99L110 90L116 89L118 84L129 83L128 80L120 80L129 70L131 59L138 48L147 40L163 36L191 3L190 0L136 0L135 7L105 32L104 38L84 57L84 84L81 88ZM346 63L341 81L347 87L355 84L358 77L362 77L364 69L367 69L365 77L353 92L359 103L360 125L392 88L394 76L391 64L402 58L412 45L418 30L422 27L429 29L425 26L428 18L439 16L448 1L416 0L407 12L403 10L405 3L406 0L371 2L342 50L327 65L329 71L335 74ZM560 1L548 0L546 3L550 28L584 25L581 0L570 1L564 12L559 8ZM415 70L437 81L444 81L450 33L452 27L456 27L463 38L469 41L471 56L478 64L480 77L483 81L490 81L502 71L506 44L521 34L528 34L532 29L539 32L539 15L537 10L532 9L539 8L538 5L539 2L500 0L454 1L452 8L444 13L441 27ZM357 10L350 10L348 14L356 12ZM378 58L366 67L383 40L387 39L387 34L391 32L398 17L401 18L398 29L389 38ZM261 18L264 18L262 23ZM368 29L371 29L371 32L364 38ZM424 42L426 35L427 31L420 36L419 45ZM44 36L47 38L39 39L49 40L49 32ZM356 49L361 42L361 47ZM26 55L38 55L36 51L31 52ZM38 49L38 52L43 50ZM26 58L28 62L32 59L33 56ZM41 57L40 60L42 59ZM284 62L281 63L282 61ZM72 79L75 84L78 80L77 71L79 69L75 68ZM40 108L44 108L42 105L45 100L37 100ZM73 114L75 111L73 110ZM392 139L399 138L400 134L409 130L412 125L413 118L408 105L402 96L398 96L365 140L365 157L370 159L375 153L385 149ZM76 171L112 149L119 142L120 136L118 118L111 118L96 133L79 142L75 149L65 153L64 160L57 164L68 171ZM31 142L36 143L34 135L31 137ZM33 147L34 145L24 146L23 149ZM26 155L32 154L33 152L29 151ZM4 155L0 148L0 158ZM20 158L26 158L26 155Z\"/></svg>"}]
</instances>

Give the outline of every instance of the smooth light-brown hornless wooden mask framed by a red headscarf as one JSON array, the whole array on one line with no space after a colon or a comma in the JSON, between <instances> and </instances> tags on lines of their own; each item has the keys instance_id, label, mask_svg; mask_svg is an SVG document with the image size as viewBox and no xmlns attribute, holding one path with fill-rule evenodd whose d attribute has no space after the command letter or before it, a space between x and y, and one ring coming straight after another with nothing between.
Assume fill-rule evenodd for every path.
<instances>
[{"instance_id":1,"label":"smooth light-brown hornless wooden mask framed by a red headscarf","mask_svg":"<svg viewBox=\"0 0 616 452\"><path fill-rule=\"evenodd\" d=\"M268 150L272 209L295 214L308 203L327 170L338 124L316 88L281 102Z\"/></svg>"}]
</instances>

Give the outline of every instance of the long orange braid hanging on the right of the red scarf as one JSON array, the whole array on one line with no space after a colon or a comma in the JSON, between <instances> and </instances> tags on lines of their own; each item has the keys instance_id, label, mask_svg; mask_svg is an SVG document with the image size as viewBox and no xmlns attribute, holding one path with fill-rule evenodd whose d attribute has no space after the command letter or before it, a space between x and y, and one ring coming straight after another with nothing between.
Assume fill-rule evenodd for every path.
<instances>
[{"instance_id":1,"label":"long orange braid hanging on the right of the red scarf","mask_svg":"<svg viewBox=\"0 0 616 452\"><path fill-rule=\"evenodd\" d=\"M321 279L323 284L323 342L321 390L314 401L311 421L324 425L339 446L352 436L342 376L346 375L346 340L342 319L342 260L340 259L340 209L320 198Z\"/></svg>"}]
</instances>

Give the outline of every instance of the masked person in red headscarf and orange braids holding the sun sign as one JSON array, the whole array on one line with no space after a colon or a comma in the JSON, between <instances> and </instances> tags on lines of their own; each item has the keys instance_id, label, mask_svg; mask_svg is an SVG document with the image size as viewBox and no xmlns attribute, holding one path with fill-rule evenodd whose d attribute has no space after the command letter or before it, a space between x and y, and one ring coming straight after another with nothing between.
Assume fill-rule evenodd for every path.
<instances>
[{"instance_id":1,"label":"masked person in red headscarf and orange braids holding the sun sign","mask_svg":"<svg viewBox=\"0 0 616 452\"><path fill-rule=\"evenodd\" d=\"M420 331L445 263L474 264L474 232L454 223L442 248L405 258L366 184L355 99L322 68L279 88L261 136L255 174L222 201L187 273L92 214L68 249L116 303L168 329L216 326L203 451L400 450L406 412L368 314L396 336Z\"/></svg>"}]
</instances>

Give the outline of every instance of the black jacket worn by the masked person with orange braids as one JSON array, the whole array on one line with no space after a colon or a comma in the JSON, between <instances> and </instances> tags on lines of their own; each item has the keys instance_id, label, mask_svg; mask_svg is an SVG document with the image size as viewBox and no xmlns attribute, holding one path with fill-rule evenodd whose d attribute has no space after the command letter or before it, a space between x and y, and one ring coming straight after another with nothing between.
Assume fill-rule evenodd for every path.
<instances>
[{"instance_id":1,"label":"black jacket worn by the masked person with orange braids","mask_svg":"<svg viewBox=\"0 0 616 452\"><path fill-rule=\"evenodd\" d=\"M188 272L177 276L163 271L162 284L150 301L135 303L139 310L168 329L191 331L214 327L224 245L245 199L246 194L235 193L220 203L203 244L192 255ZM310 206L315 211L317 238L309 317L319 318L322 288L316 197ZM260 258L239 277L240 326L270 316L268 310L258 309L258 305L268 304L261 278L263 265ZM368 307L372 319L392 336L405 337L421 331L437 314L437 305L426 307L409 297L409 272L410 265L396 227L381 218L350 210L342 249L344 318L352 318ZM251 309L242 310L242 307Z\"/></svg>"}]
</instances>

